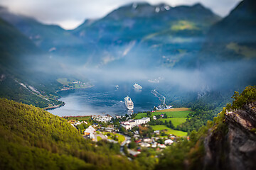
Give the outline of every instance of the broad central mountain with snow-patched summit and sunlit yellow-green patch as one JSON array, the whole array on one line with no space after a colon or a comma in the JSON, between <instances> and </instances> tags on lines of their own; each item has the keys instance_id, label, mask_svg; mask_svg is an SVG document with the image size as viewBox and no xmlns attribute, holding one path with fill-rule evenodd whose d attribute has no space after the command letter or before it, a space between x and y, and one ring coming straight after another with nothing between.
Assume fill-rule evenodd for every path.
<instances>
[{"instance_id":1,"label":"broad central mountain with snow-patched summit and sunlit yellow-green patch","mask_svg":"<svg viewBox=\"0 0 256 170\"><path fill-rule=\"evenodd\" d=\"M133 3L99 20L87 20L72 33L95 43L97 50L89 58L94 64L139 63L148 67L155 63L174 67L201 48L208 28L219 20L201 4L173 8Z\"/></svg>"}]
</instances>

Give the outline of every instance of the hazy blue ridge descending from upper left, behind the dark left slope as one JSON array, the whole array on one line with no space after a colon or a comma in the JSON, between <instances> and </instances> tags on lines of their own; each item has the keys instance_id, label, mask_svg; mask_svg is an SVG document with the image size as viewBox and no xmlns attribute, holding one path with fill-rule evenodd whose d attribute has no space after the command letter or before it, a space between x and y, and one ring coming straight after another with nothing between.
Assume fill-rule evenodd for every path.
<instances>
[{"instance_id":1,"label":"hazy blue ridge descending from upper left, behind the dark left slope","mask_svg":"<svg viewBox=\"0 0 256 170\"><path fill-rule=\"evenodd\" d=\"M66 56L84 55L81 51L85 52L85 42L73 36L68 30L60 28L60 26L40 23L34 18L11 13L2 6L0 6L0 18L11 23L41 50L50 52L52 57L65 60ZM68 62L70 61L68 60Z\"/></svg>"}]
</instances>

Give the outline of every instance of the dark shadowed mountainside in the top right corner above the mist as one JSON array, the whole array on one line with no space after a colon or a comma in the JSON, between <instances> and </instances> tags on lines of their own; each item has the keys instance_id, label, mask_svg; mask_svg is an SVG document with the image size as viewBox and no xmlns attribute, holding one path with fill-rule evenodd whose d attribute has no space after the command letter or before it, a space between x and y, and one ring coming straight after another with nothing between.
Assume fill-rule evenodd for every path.
<instances>
[{"instance_id":1,"label":"dark shadowed mountainside in the top right corner above the mist","mask_svg":"<svg viewBox=\"0 0 256 170\"><path fill-rule=\"evenodd\" d=\"M241 1L223 20L210 28L203 45L203 62L256 59L256 3Z\"/></svg>"}]
</instances>

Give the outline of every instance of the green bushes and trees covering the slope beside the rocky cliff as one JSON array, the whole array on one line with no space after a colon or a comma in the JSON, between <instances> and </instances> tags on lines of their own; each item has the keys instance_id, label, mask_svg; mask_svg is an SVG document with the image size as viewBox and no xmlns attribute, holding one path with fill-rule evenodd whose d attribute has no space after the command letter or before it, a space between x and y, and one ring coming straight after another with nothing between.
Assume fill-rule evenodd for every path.
<instances>
[{"instance_id":1,"label":"green bushes and trees covering the slope beside the rocky cliff","mask_svg":"<svg viewBox=\"0 0 256 170\"><path fill-rule=\"evenodd\" d=\"M255 101L255 94L255 86L247 86L241 94L236 91L233 96L235 99L233 105L228 104L228 109L242 108L245 104ZM197 109L203 111L206 108L197 106L193 110L197 113ZM203 169L206 137L211 134L214 137L223 138L228 133L228 125L225 123L226 109L223 108L218 116L213 118L213 121L208 120L206 125L199 128L197 132L192 130L189 136L190 140L180 138L174 145L165 149L164 155L159 158L159 164L155 169L169 169L169 167L171 169Z\"/></svg>"}]
</instances>

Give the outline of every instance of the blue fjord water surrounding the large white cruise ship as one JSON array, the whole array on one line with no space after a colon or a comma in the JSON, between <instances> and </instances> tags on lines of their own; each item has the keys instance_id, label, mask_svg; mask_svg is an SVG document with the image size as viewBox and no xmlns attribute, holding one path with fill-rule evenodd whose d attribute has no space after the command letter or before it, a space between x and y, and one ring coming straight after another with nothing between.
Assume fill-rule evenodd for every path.
<instances>
[{"instance_id":1,"label":"blue fjord water surrounding the large white cruise ship","mask_svg":"<svg viewBox=\"0 0 256 170\"><path fill-rule=\"evenodd\" d=\"M161 101L151 94L153 88L143 86L142 90L134 89L133 84L117 84L105 86L93 86L89 89L73 89L60 91L60 101L65 106L49 110L50 113L59 116L77 115L125 115L142 111L151 111ZM134 110L127 111L124 97L129 96L134 102Z\"/></svg>"}]
</instances>

